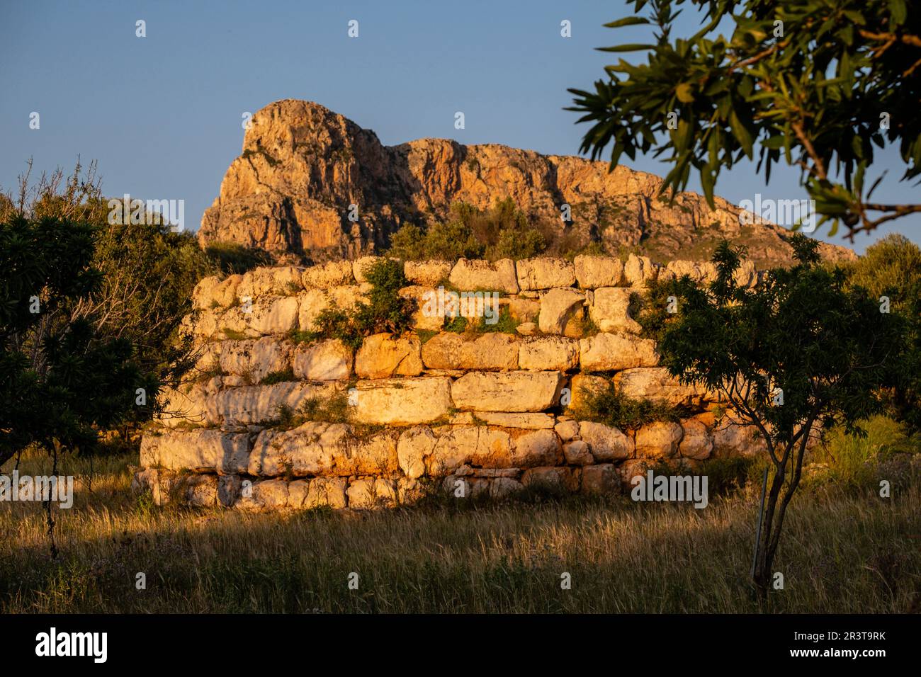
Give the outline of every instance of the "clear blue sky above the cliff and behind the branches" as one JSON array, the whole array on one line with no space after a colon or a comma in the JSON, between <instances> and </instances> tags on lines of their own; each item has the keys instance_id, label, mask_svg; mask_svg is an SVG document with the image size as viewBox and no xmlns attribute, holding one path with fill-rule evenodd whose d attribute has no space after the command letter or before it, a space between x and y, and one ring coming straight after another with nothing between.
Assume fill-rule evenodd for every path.
<instances>
[{"instance_id":1,"label":"clear blue sky above the cliff and behind the branches","mask_svg":"<svg viewBox=\"0 0 921 677\"><path fill-rule=\"evenodd\" d=\"M435 136L575 155L587 126L563 110L566 88L589 88L612 63L593 48L642 41L645 28L601 27L627 14L623 0L0 0L0 186L13 188L29 157L41 171L72 169L79 155L99 160L105 193L184 199L186 226L198 228L239 155L241 114L275 99L317 101L387 145ZM146 38L134 35L137 19ZM346 35L350 19L357 39ZM571 38L560 36L563 19ZM683 34L695 27L684 17ZM29 129L31 111L40 130ZM455 111L466 129L454 129ZM626 163L667 171L652 158ZM894 181L896 153L874 170L886 167L891 181L874 197L916 202L910 183ZM798 179L777 167L765 186L740 166L717 193L735 204L754 193L805 197ZM921 241L921 218L860 236L855 249L892 230Z\"/></svg>"}]
</instances>

